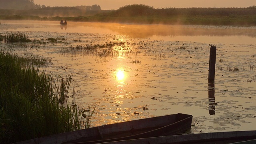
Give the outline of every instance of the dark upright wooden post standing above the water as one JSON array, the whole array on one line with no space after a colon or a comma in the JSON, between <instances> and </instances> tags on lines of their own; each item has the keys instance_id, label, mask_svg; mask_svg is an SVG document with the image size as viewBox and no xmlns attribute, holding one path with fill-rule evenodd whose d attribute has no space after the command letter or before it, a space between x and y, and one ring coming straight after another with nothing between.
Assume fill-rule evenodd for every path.
<instances>
[{"instance_id":1,"label":"dark upright wooden post standing above the water","mask_svg":"<svg viewBox=\"0 0 256 144\"><path fill-rule=\"evenodd\" d=\"M214 82L214 79L215 79L215 63L216 63L216 46L211 46L211 48L210 48L208 82Z\"/></svg>"}]
</instances>

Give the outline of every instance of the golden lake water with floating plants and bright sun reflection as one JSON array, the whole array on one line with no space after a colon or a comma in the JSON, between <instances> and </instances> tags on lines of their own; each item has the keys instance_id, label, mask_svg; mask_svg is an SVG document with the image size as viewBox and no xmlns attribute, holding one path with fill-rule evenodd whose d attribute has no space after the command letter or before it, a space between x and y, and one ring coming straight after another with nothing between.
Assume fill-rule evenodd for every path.
<instances>
[{"instance_id":1,"label":"golden lake water with floating plants and bright sun reflection","mask_svg":"<svg viewBox=\"0 0 256 144\"><path fill-rule=\"evenodd\" d=\"M1 20L1 35L17 31L46 44L13 48L14 53L51 58L41 70L54 75L73 73L76 94L69 102L96 106L92 126L184 113L193 116L189 133L256 130L256 26L68 22L61 27L54 21ZM86 44L116 45L106 56L100 55L103 48L70 52ZM211 45L217 47L214 85L208 85Z\"/></svg>"}]
</instances>

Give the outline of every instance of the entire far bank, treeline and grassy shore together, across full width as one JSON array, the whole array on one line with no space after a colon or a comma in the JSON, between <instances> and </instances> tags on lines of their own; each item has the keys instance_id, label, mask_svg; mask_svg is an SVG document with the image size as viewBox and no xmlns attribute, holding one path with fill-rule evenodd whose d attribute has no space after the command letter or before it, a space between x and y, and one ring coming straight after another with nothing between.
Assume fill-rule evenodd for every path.
<instances>
[{"instance_id":1,"label":"entire far bank, treeline and grassy shore together, across full width","mask_svg":"<svg viewBox=\"0 0 256 144\"><path fill-rule=\"evenodd\" d=\"M256 6L246 8L153 8L133 4L118 10L100 6L46 7L35 10L0 10L6 20L61 20L141 24L256 25Z\"/></svg>"}]
</instances>

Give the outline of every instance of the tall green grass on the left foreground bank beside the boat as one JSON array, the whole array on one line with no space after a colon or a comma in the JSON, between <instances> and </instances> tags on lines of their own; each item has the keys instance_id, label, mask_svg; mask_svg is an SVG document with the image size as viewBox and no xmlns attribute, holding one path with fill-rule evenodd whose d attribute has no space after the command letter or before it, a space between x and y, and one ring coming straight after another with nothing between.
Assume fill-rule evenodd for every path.
<instances>
[{"instance_id":1,"label":"tall green grass on the left foreground bank beside the boat","mask_svg":"<svg viewBox=\"0 0 256 144\"><path fill-rule=\"evenodd\" d=\"M0 52L0 141L12 143L51 134L79 130L85 112L76 104L62 104L60 93L67 94L70 74L61 78L27 66L20 57ZM69 84L66 84L68 81ZM92 115L90 115L92 116Z\"/></svg>"}]
</instances>

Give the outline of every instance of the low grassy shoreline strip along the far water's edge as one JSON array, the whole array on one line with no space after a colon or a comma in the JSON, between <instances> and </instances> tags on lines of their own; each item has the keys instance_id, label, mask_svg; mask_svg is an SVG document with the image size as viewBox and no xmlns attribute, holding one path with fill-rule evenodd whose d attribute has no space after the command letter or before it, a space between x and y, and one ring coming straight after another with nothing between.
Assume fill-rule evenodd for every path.
<instances>
[{"instance_id":1,"label":"low grassy shoreline strip along the far water's edge","mask_svg":"<svg viewBox=\"0 0 256 144\"><path fill-rule=\"evenodd\" d=\"M213 26L256 26L256 15L247 16L75 16L75 17L40 17L40 16L0 16L0 20L40 20L68 22L112 22L132 24L179 24L179 25L213 25Z\"/></svg>"}]
</instances>

